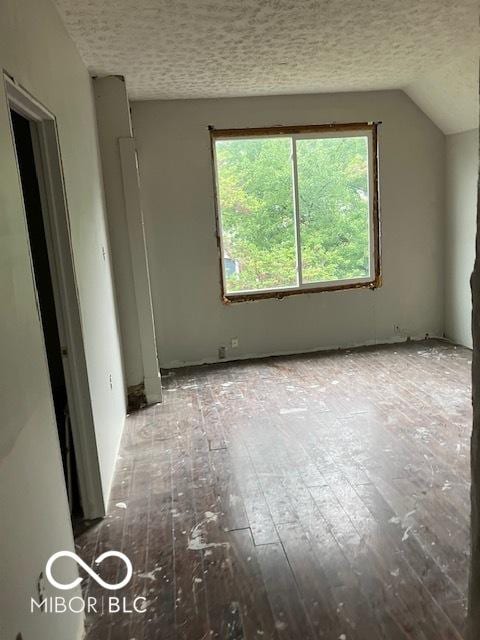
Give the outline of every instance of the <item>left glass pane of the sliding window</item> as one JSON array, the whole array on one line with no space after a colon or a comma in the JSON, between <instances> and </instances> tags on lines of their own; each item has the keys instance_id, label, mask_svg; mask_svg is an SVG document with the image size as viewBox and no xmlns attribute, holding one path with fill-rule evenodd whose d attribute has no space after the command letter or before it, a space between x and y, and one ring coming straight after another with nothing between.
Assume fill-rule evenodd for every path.
<instances>
[{"instance_id":1,"label":"left glass pane of the sliding window","mask_svg":"<svg viewBox=\"0 0 480 640\"><path fill-rule=\"evenodd\" d=\"M297 284L291 145L216 141L227 293Z\"/></svg>"}]
</instances>

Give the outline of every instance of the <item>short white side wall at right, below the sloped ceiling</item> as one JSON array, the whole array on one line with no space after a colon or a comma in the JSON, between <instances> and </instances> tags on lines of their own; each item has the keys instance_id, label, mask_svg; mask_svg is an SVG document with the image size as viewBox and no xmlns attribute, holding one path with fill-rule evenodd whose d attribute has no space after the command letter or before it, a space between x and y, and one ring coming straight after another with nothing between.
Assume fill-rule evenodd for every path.
<instances>
[{"instance_id":1,"label":"short white side wall at right, below the sloped ceiling","mask_svg":"<svg viewBox=\"0 0 480 640\"><path fill-rule=\"evenodd\" d=\"M478 129L447 136L445 334L472 347L470 276L475 258Z\"/></svg>"}]
</instances>

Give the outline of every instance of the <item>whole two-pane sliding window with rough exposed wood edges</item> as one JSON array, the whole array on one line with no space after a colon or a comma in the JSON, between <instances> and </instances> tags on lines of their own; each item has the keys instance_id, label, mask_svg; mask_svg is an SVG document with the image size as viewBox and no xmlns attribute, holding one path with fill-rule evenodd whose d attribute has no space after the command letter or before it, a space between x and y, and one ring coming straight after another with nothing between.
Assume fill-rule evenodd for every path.
<instances>
[{"instance_id":1,"label":"whole two-pane sliding window with rough exposed wood edges","mask_svg":"<svg viewBox=\"0 0 480 640\"><path fill-rule=\"evenodd\" d=\"M375 124L211 135L225 299L379 286Z\"/></svg>"}]
</instances>

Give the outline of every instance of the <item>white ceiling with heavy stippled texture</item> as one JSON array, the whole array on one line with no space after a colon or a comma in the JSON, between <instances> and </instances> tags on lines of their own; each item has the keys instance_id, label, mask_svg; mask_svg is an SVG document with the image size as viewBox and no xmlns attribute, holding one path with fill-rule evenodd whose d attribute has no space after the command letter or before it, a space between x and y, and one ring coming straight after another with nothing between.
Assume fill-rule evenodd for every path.
<instances>
[{"instance_id":1,"label":"white ceiling with heavy stippled texture","mask_svg":"<svg viewBox=\"0 0 480 640\"><path fill-rule=\"evenodd\" d=\"M124 75L132 99L404 88L421 103L431 77L437 124L478 122L478 0L55 2L91 73Z\"/></svg>"}]
</instances>

